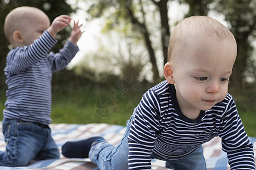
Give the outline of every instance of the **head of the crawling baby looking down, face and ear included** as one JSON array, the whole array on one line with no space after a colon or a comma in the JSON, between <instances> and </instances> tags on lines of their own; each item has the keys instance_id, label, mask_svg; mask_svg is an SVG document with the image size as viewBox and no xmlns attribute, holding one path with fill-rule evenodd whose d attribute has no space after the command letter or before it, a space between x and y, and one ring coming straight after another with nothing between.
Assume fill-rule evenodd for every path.
<instances>
[{"instance_id":1,"label":"head of the crawling baby looking down, face and ear included","mask_svg":"<svg viewBox=\"0 0 256 170\"><path fill-rule=\"evenodd\" d=\"M176 25L164 77L181 111L206 111L225 99L236 55L234 36L217 20L191 16Z\"/></svg>"}]
</instances>

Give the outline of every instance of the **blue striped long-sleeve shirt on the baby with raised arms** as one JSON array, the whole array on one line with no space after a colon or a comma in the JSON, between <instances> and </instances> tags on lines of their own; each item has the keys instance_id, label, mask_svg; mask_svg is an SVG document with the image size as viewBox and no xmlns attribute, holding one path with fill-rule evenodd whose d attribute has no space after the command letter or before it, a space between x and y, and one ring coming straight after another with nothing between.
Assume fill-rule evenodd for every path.
<instances>
[{"instance_id":1,"label":"blue striped long-sleeve shirt on the baby with raised arms","mask_svg":"<svg viewBox=\"0 0 256 170\"><path fill-rule=\"evenodd\" d=\"M48 125L51 114L52 73L64 69L79 48L68 41L59 53L48 53L56 44L47 31L29 46L10 50L6 58L6 118Z\"/></svg>"}]
</instances>

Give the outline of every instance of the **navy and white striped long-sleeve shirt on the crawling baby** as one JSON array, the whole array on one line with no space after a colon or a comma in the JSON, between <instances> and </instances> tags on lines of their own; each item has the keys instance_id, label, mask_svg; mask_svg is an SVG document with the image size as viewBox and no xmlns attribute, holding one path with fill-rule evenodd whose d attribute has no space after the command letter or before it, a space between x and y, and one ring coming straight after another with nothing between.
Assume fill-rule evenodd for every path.
<instances>
[{"instance_id":1,"label":"navy and white striped long-sleeve shirt on the crawling baby","mask_svg":"<svg viewBox=\"0 0 256 170\"><path fill-rule=\"evenodd\" d=\"M255 169L253 145L231 95L191 120L177 104L174 85L163 81L143 95L135 112L128 137L129 169L151 169L152 153L163 160L182 159L217 136L231 169Z\"/></svg>"}]
</instances>

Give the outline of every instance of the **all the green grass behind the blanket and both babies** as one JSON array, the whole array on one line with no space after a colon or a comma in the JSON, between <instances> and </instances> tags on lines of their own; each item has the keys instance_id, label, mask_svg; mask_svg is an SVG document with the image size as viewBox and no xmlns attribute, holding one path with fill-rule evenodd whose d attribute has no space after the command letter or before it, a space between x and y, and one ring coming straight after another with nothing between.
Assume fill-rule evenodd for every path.
<instances>
[{"instance_id":1,"label":"all the green grass behind the blanket and both babies","mask_svg":"<svg viewBox=\"0 0 256 170\"><path fill-rule=\"evenodd\" d=\"M69 73L65 73L69 74ZM118 80L109 83L92 83L88 79L71 78L72 75L55 75L52 87L52 123L90 124L106 123L125 125L138 105L143 93L153 86L141 84L138 88L130 87L131 91L121 100L111 91ZM72 79L72 80L71 80ZM58 82L58 83L57 83ZM256 137L256 92L233 95L238 112L250 137ZM99 101L107 102L101 107ZM5 103L5 90L0 91L0 118ZM100 110L102 109L102 110ZM106 111L105 113L102 111ZM111 114L111 115L110 115Z\"/></svg>"}]
</instances>

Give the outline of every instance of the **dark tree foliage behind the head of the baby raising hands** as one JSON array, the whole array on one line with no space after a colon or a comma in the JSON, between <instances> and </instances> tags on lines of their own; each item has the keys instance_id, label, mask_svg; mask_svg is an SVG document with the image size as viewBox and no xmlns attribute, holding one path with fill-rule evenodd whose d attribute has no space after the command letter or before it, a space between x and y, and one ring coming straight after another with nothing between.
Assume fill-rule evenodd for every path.
<instances>
[{"instance_id":1,"label":"dark tree foliage behind the head of the baby raising hands","mask_svg":"<svg viewBox=\"0 0 256 170\"><path fill-rule=\"evenodd\" d=\"M65 0L45 0L45 1L38 1L38 0L24 0L24 1L18 1L18 0L12 0L12 1L1 1L0 2L0 85L1 87L4 86L4 79L3 76L3 69L6 64L6 55L9 52L9 42L6 40L4 32L3 32L3 23L5 22L6 15L13 10L16 7L19 6L33 6L40 8L43 10L48 16L49 19L52 20L56 18L56 16L59 16L61 14L71 14L72 12L76 11L76 8L72 8ZM58 36L56 37L57 40L59 40L61 43L58 43L54 46L52 49L54 52L57 52L63 44L64 41L67 40L67 37L69 33L71 32L70 28L64 29L61 31Z\"/></svg>"}]
</instances>

